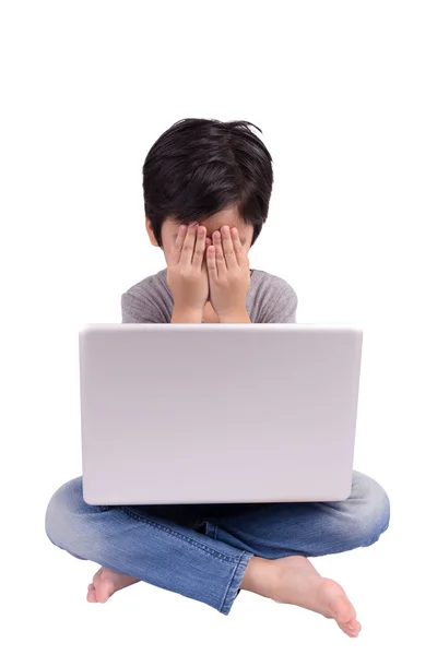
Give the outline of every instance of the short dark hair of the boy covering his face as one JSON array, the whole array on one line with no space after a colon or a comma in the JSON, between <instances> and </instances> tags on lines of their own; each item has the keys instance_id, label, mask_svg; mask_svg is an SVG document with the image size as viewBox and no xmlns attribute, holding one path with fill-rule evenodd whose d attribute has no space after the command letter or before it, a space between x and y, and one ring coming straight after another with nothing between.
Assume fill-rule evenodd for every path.
<instances>
[{"instance_id":1,"label":"short dark hair of the boy covering his face","mask_svg":"<svg viewBox=\"0 0 437 655\"><path fill-rule=\"evenodd\" d=\"M143 166L144 209L162 247L161 228L204 221L232 205L257 240L269 212L272 157L248 121L187 118L172 126L150 150Z\"/></svg>"}]
</instances>

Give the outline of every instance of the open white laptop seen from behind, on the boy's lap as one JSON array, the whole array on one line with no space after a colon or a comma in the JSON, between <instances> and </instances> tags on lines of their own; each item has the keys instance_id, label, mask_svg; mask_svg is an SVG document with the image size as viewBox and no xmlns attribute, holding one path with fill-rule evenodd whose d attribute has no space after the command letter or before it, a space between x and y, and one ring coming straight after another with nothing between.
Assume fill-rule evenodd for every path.
<instances>
[{"instance_id":1,"label":"open white laptop seen from behind, on the boy's lap","mask_svg":"<svg viewBox=\"0 0 437 655\"><path fill-rule=\"evenodd\" d=\"M84 500L346 499L362 340L329 324L86 325Z\"/></svg>"}]
</instances>

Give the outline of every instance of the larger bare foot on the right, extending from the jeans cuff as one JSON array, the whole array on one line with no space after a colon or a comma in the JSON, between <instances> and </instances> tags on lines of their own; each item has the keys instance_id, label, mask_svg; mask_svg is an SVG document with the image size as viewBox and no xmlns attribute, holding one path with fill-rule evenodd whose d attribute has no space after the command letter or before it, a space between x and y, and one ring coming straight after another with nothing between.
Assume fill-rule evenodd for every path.
<instances>
[{"instance_id":1,"label":"larger bare foot on the right, extending from the jeans cuff","mask_svg":"<svg viewBox=\"0 0 437 655\"><path fill-rule=\"evenodd\" d=\"M358 636L362 629L355 609L340 584L322 577L306 557L291 556L276 560L252 557L241 588L334 619L349 636Z\"/></svg>"}]
</instances>

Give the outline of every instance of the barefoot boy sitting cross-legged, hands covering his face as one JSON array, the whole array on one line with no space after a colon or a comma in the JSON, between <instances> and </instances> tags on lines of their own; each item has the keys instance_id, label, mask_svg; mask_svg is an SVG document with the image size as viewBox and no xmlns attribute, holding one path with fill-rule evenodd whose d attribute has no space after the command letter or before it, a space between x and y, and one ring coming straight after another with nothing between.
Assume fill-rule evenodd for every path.
<instances>
[{"instance_id":1,"label":"barefoot boy sitting cross-legged, hands covering his face","mask_svg":"<svg viewBox=\"0 0 437 655\"><path fill-rule=\"evenodd\" d=\"M123 322L295 322L294 289L249 267L273 183L271 156L251 124L187 119L151 148L143 167L146 229L167 269L123 294ZM213 373L214 353L205 380L216 420ZM91 603L144 581L227 615L246 590L332 618L357 636L344 591L307 558L369 546L389 517L383 489L356 472L350 498L326 503L92 507L76 478L50 500L46 532L58 547L101 564Z\"/></svg>"}]
</instances>

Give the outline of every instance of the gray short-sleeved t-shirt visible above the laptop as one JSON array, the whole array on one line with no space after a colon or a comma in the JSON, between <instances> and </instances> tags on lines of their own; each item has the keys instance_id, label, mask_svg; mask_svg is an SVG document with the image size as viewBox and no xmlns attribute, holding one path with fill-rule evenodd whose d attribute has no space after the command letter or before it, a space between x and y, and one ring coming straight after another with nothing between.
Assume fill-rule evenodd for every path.
<instances>
[{"instance_id":1,"label":"gray short-sleeved t-shirt visible above the laptop","mask_svg":"<svg viewBox=\"0 0 437 655\"><path fill-rule=\"evenodd\" d=\"M287 282L264 271L252 271L246 296L246 309L252 323L295 323L296 308L297 296ZM167 269L127 290L121 296L121 313L123 323L170 323L173 296Z\"/></svg>"}]
</instances>

